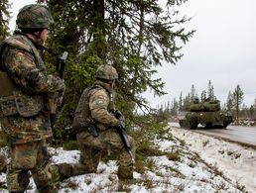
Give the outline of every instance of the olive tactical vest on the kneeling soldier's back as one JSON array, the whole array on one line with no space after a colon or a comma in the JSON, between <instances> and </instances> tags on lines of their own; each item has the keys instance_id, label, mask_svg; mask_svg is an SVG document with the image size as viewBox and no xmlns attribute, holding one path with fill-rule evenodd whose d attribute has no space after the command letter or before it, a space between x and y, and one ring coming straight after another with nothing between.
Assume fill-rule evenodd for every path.
<instances>
[{"instance_id":1,"label":"olive tactical vest on the kneeling soldier's back","mask_svg":"<svg viewBox=\"0 0 256 193\"><path fill-rule=\"evenodd\" d=\"M94 89L100 90L103 88L99 85L93 85L93 86L86 88L82 92L81 97L78 102L78 105L75 109L74 118L73 118L73 122L72 122L72 126L71 126L72 129L79 129L80 123L95 124L95 123L93 123L93 119L91 117L90 109L89 109L89 95L91 93L90 91L92 91Z\"/></svg>"}]
</instances>

